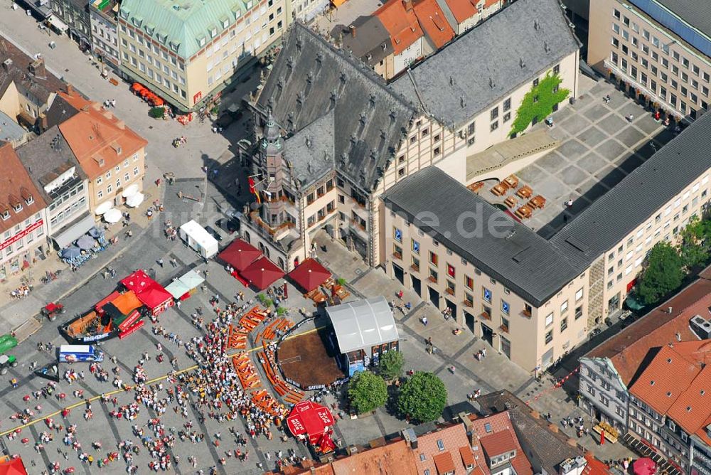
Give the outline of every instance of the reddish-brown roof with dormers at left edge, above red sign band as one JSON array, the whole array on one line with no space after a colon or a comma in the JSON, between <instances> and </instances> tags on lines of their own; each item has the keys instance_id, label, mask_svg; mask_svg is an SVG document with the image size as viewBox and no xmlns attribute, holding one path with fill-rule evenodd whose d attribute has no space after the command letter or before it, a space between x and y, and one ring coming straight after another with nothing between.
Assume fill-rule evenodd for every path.
<instances>
[{"instance_id":1,"label":"reddish-brown roof with dormers at left edge, above red sign band","mask_svg":"<svg viewBox=\"0 0 711 475\"><path fill-rule=\"evenodd\" d=\"M0 213L5 210L10 213L10 218L0 219L0 230L5 231L32 218L35 213L45 208L47 203L9 142L0 141L0 163ZM32 197L33 203L28 205L23 196ZM19 213L13 208L17 204L22 206Z\"/></svg>"}]
</instances>

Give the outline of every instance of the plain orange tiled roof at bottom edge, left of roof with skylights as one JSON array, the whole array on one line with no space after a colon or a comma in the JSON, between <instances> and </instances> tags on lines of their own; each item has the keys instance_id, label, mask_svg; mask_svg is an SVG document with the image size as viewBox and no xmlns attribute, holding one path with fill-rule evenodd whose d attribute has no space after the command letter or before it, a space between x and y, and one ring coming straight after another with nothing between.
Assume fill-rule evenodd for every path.
<instances>
[{"instance_id":1,"label":"plain orange tiled roof at bottom edge, left of roof with skylights","mask_svg":"<svg viewBox=\"0 0 711 475\"><path fill-rule=\"evenodd\" d=\"M333 461L334 475L414 474L415 456L404 440Z\"/></svg>"}]
</instances>

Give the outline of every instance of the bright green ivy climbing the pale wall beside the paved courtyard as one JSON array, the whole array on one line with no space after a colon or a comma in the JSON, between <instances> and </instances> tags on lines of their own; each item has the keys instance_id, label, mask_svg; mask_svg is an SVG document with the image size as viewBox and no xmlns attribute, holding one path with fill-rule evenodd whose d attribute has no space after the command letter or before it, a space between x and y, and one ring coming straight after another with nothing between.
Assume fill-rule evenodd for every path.
<instances>
[{"instance_id":1,"label":"bright green ivy climbing the pale wall beside the paved courtyard","mask_svg":"<svg viewBox=\"0 0 711 475\"><path fill-rule=\"evenodd\" d=\"M552 114L553 106L565 100L570 94L570 90L559 89L561 82L563 80L559 75L548 73L538 82L538 85L532 87L523 97L516 111L516 118L511 124L511 132L508 134L523 132L533 119L540 122Z\"/></svg>"}]
</instances>

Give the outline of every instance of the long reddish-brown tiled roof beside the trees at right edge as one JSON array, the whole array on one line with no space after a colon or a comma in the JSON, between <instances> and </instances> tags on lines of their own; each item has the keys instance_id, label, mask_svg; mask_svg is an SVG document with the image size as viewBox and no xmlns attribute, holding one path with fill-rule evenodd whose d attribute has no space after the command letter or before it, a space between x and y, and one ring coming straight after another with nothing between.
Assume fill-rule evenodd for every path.
<instances>
[{"instance_id":1,"label":"long reddish-brown tiled roof beside the trees at right edge","mask_svg":"<svg viewBox=\"0 0 711 475\"><path fill-rule=\"evenodd\" d=\"M705 271L706 272L706 271ZM689 327L695 315L710 316L711 281L700 278L643 318L587 353L587 358L609 358L620 378L628 385L643 369L652 348L678 341L697 340ZM672 313L668 313L671 307ZM653 350L653 351L656 351Z\"/></svg>"}]
</instances>

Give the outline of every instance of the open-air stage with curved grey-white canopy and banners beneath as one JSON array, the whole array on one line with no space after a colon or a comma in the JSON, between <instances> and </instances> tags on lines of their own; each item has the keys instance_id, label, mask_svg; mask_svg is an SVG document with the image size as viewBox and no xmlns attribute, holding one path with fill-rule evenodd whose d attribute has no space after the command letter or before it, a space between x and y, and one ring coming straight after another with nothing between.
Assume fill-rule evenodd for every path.
<instances>
[{"instance_id":1,"label":"open-air stage with curved grey-white canopy and banners beneath","mask_svg":"<svg viewBox=\"0 0 711 475\"><path fill-rule=\"evenodd\" d=\"M385 297L328 306L326 314L341 353L338 363L348 376L365 370L371 363L378 365L380 356L398 350L400 337Z\"/></svg>"}]
</instances>

